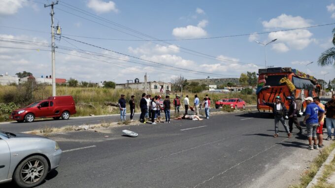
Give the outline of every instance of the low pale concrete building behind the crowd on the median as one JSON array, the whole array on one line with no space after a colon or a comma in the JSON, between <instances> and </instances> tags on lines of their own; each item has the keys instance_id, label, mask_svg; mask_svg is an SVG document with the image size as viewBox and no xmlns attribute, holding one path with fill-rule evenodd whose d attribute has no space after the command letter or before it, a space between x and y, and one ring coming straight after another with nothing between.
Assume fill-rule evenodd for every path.
<instances>
[{"instance_id":1,"label":"low pale concrete building behind the crowd on the median","mask_svg":"<svg viewBox=\"0 0 335 188\"><path fill-rule=\"evenodd\" d=\"M163 92L161 92L161 89L163 87ZM136 89L136 90L145 90L145 84L144 82L136 82L135 83L126 83L126 84L116 84L115 89ZM169 92L171 90L171 83L165 83L165 82L147 82L147 89L148 93L163 93L165 94L167 91Z\"/></svg>"}]
</instances>

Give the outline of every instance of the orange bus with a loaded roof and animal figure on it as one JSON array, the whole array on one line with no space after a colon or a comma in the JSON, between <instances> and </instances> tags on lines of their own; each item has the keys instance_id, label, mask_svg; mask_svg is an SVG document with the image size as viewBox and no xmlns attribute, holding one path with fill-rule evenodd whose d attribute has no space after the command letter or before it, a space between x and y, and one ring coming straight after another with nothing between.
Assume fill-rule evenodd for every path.
<instances>
[{"instance_id":1,"label":"orange bus with a loaded roof and animal figure on it","mask_svg":"<svg viewBox=\"0 0 335 188\"><path fill-rule=\"evenodd\" d=\"M262 101L274 102L276 96L282 98L285 106L289 107L287 96L295 98L299 113L304 112L306 103L303 98L318 96L320 85L317 80L291 67L271 67L258 70L257 109L259 112L271 112L271 107Z\"/></svg>"}]
</instances>

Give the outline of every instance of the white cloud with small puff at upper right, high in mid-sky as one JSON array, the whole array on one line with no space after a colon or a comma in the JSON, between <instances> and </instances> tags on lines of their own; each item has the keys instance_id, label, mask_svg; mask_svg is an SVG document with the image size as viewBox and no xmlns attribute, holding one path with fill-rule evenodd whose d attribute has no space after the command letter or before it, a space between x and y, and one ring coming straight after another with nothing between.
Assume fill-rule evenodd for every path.
<instances>
[{"instance_id":1,"label":"white cloud with small puff at upper right, high in mid-sky","mask_svg":"<svg viewBox=\"0 0 335 188\"><path fill-rule=\"evenodd\" d=\"M207 20L201 20L198 26L186 26L185 28L174 28L172 34L178 38L199 38L207 36L207 32L203 29L207 25Z\"/></svg>"}]
</instances>

